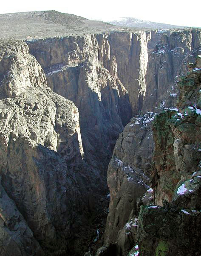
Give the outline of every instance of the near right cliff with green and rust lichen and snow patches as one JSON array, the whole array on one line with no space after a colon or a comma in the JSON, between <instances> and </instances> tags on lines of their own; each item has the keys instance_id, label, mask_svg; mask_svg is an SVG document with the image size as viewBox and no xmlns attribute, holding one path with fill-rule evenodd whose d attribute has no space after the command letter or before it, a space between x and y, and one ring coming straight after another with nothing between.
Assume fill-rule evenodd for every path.
<instances>
[{"instance_id":1,"label":"near right cliff with green and rust lichen and snow patches","mask_svg":"<svg viewBox=\"0 0 201 256\"><path fill-rule=\"evenodd\" d=\"M178 82L178 110L154 120L154 206L141 207L139 253L200 255L201 55ZM191 227L191 228L189 228Z\"/></svg>"}]
</instances>

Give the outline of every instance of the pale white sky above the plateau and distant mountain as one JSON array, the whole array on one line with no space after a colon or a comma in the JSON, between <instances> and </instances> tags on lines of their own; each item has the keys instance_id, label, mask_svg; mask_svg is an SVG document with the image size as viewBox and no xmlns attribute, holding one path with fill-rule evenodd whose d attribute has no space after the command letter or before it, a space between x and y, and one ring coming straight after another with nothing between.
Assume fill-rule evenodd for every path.
<instances>
[{"instance_id":1,"label":"pale white sky above the plateau and distant mountain","mask_svg":"<svg viewBox=\"0 0 201 256\"><path fill-rule=\"evenodd\" d=\"M201 0L4 0L0 13L56 10L88 19L136 17L160 23L201 27Z\"/></svg>"}]
</instances>

